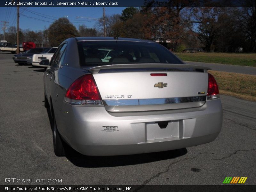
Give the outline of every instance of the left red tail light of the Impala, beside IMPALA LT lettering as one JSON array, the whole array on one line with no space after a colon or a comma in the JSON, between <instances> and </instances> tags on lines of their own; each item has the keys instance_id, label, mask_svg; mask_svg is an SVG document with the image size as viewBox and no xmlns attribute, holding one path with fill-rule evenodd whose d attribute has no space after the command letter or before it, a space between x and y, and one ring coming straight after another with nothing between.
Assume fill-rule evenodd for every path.
<instances>
[{"instance_id":1,"label":"left red tail light of the Impala, beside IMPALA LT lettering","mask_svg":"<svg viewBox=\"0 0 256 192\"><path fill-rule=\"evenodd\" d=\"M70 85L65 101L73 105L102 105L92 74L79 77Z\"/></svg>"}]
</instances>

